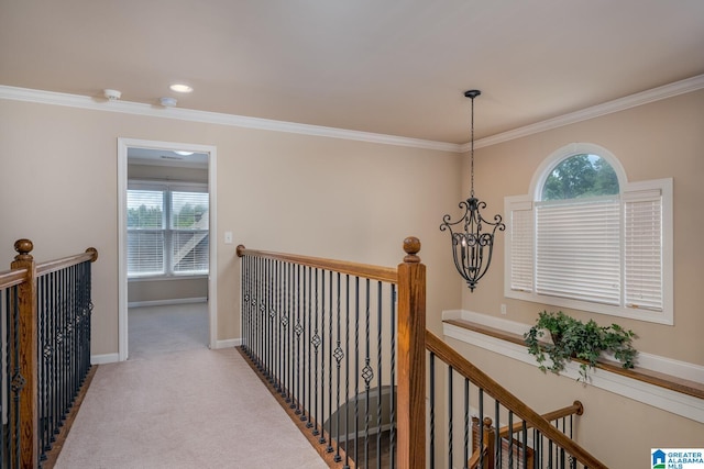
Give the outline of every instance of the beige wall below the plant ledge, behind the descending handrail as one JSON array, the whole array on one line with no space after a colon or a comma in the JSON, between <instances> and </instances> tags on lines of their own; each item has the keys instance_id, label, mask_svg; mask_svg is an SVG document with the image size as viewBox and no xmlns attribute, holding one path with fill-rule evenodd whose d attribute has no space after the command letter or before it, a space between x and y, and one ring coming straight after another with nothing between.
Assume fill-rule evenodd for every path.
<instances>
[{"instance_id":1,"label":"beige wall below the plant ledge, behind the descending handrail","mask_svg":"<svg viewBox=\"0 0 704 469\"><path fill-rule=\"evenodd\" d=\"M575 417L573 437L608 468L648 468L650 448L701 448L704 442L698 422L572 378L542 375L534 366L453 338L446 342L538 413L582 402L584 414Z\"/></svg>"}]
</instances>

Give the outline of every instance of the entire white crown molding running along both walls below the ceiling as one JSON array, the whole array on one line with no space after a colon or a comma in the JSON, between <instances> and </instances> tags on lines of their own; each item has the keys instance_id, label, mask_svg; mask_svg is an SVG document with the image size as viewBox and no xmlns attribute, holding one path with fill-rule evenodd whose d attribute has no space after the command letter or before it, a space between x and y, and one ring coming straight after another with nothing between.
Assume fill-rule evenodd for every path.
<instances>
[{"instance_id":1,"label":"entire white crown molding running along both walls below the ceiling","mask_svg":"<svg viewBox=\"0 0 704 469\"><path fill-rule=\"evenodd\" d=\"M602 104L593 105L581 111L571 112L547 121L525 125L512 131L502 132L496 135L480 138L474 142L475 148L492 146L521 138L601 115L612 114L662 99L672 98L704 88L704 75L686 78L670 85L664 85L651 90L630 94ZM28 101L42 104L65 105L69 108L90 109L96 111L121 112L125 114L148 115L155 118L177 119L190 122L204 122L211 124L231 125L243 129L258 129L274 132L286 132L302 135L323 136L330 138L342 138L349 141L360 141L377 143L383 145L407 146L414 148L436 149L449 153L466 153L470 144L453 144L447 142L426 141L420 138L409 138L396 135L375 134L371 132L351 131L345 129L324 127L320 125L298 124L295 122L274 121L270 119L248 118L244 115L222 114L217 112L196 111L182 108L163 108L158 105L145 104L129 101L107 101L94 97L67 94L54 91L32 90L0 85L0 99Z\"/></svg>"}]
</instances>

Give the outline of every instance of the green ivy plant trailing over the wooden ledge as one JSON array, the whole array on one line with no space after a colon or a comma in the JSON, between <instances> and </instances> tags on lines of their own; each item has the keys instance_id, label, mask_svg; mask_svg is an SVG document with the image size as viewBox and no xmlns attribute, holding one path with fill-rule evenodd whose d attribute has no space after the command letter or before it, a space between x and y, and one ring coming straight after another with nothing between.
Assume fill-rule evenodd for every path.
<instances>
[{"instance_id":1,"label":"green ivy plant trailing over the wooden ledge","mask_svg":"<svg viewBox=\"0 0 704 469\"><path fill-rule=\"evenodd\" d=\"M541 340L546 331L552 343ZM632 368L638 351L632 347L636 334L618 324L600 326L564 314L540 312L536 324L524 334L528 353L536 357L541 371L559 373L573 358L581 360L578 381L588 381L587 372L598 362L602 351L612 353L624 368ZM551 364L547 360L550 359Z\"/></svg>"}]
</instances>

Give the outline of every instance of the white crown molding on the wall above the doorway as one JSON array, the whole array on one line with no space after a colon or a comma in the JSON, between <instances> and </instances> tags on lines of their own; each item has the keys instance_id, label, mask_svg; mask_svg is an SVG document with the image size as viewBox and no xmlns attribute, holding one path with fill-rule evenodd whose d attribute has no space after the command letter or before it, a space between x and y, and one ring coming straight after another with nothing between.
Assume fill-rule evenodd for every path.
<instances>
[{"instance_id":1,"label":"white crown molding on the wall above the doorway","mask_svg":"<svg viewBox=\"0 0 704 469\"><path fill-rule=\"evenodd\" d=\"M324 127L321 125L298 124L295 122L275 121L271 119L248 118L244 115L224 114L218 112L197 111L193 109L164 108L156 104L145 104L141 102L108 101L107 99L102 98L59 93L54 91L33 90L2 85L0 85L0 99L35 102L41 104L64 105L68 108L89 109L94 111L120 112L124 114L146 115L151 118L176 119L180 121L230 125L242 129L285 132L292 134L340 138L383 145L406 146L439 152L461 153L460 145L453 143L433 142L420 138L402 137L396 135L375 134L371 132L351 131L345 129Z\"/></svg>"}]
</instances>

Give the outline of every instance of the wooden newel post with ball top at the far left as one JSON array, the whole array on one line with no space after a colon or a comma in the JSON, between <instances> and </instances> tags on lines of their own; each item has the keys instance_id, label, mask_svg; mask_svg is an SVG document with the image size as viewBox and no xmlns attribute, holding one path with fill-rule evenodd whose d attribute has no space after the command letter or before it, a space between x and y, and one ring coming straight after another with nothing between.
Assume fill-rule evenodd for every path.
<instances>
[{"instance_id":1,"label":"wooden newel post with ball top at the far left","mask_svg":"<svg viewBox=\"0 0 704 469\"><path fill-rule=\"evenodd\" d=\"M19 390L20 398L19 467L22 468L38 467L36 265L30 254L33 248L34 245L30 239L18 239L14 243L14 250L19 254L11 264L12 269L26 269L26 280L18 286L19 369L13 370L11 384L13 389ZM11 324L14 328L13 321ZM11 330L11 334L13 333L14 331ZM14 344L11 347L14 347Z\"/></svg>"}]
</instances>

